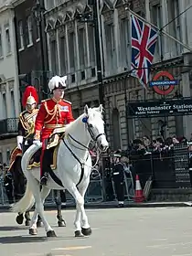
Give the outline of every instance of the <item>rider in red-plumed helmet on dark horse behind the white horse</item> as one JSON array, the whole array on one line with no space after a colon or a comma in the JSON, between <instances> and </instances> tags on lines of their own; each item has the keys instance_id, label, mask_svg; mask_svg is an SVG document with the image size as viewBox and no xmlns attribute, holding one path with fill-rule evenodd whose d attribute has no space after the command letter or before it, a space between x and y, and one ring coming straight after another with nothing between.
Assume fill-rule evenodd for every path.
<instances>
[{"instance_id":1,"label":"rider in red-plumed helmet on dark horse behind the white horse","mask_svg":"<svg viewBox=\"0 0 192 256\"><path fill-rule=\"evenodd\" d=\"M26 152L27 148L33 143L35 120L38 110L36 109L38 95L35 87L27 86L22 97L23 108L26 109L19 115L18 135L16 137L17 147L12 151L10 157L10 173L14 181L14 196L16 201L19 200L25 193L25 176L21 169L21 157ZM26 225L29 225L29 211L25 214ZM18 214L16 222L23 223L23 214Z\"/></svg>"}]
</instances>

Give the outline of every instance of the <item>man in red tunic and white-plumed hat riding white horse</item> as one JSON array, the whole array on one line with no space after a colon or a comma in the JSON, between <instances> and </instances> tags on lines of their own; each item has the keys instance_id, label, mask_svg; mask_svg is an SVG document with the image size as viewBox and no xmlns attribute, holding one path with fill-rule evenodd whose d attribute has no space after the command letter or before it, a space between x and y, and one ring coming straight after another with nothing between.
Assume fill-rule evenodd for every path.
<instances>
[{"instance_id":1,"label":"man in red tunic and white-plumed hat riding white horse","mask_svg":"<svg viewBox=\"0 0 192 256\"><path fill-rule=\"evenodd\" d=\"M63 100L64 89L66 88L67 76L60 78L53 77L48 82L48 88L53 97L41 101L39 112L37 113L35 123L34 144L42 142L42 153L40 157L40 184L47 185L48 172L42 166L48 165L49 153L47 149L48 139L55 129L63 128L65 124L74 121L71 102Z\"/></svg>"}]
</instances>

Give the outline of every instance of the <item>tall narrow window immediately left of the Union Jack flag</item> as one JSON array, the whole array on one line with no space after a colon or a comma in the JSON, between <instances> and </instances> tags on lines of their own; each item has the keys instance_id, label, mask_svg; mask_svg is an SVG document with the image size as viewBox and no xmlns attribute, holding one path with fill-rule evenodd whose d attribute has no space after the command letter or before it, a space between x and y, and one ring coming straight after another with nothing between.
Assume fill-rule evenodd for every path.
<instances>
[{"instance_id":1,"label":"tall narrow window immediately left of the Union Jack flag","mask_svg":"<svg viewBox=\"0 0 192 256\"><path fill-rule=\"evenodd\" d=\"M123 68L127 68L129 65L130 48L129 48L129 22L128 19L123 18L120 20L120 52L121 52L121 64Z\"/></svg>"}]
</instances>

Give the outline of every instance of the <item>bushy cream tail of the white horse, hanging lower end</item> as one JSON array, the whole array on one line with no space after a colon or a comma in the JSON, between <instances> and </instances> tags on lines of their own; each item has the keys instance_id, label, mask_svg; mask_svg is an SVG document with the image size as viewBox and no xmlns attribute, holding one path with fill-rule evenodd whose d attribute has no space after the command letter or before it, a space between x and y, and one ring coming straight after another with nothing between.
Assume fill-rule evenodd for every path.
<instances>
[{"instance_id":1,"label":"bushy cream tail of the white horse, hanging lower end","mask_svg":"<svg viewBox=\"0 0 192 256\"><path fill-rule=\"evenodd\" d=\"M27 187L24 197L22 197L15 205L12 206L11 210L13 212L18 212L19 214L22 214L27 211L27 209L32 208L32 206L35 203L35 198L33 197L33 193L30 190L28 186L27 181Z\"/></svg>"}]
</instances>

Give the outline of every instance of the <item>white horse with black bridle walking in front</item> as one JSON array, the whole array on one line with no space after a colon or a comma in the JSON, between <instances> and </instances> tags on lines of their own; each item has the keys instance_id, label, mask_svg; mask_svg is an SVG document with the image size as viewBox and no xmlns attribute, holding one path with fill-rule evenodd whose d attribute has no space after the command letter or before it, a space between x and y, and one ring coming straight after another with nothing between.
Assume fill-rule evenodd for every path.
<instances>
[{"instance_id":1,"label":"white horse with black bridle walking in front","mask_svg":"<svg viewBox=\"0 0 192 256\"><path fill-rule=\"evenodd\" d=\"M104 133L104 122L102 120L102 106L99 108L88 108L86 105L84 113L66 127L65 137L59 144L57 169L55 174L62 182L63 187L68 189L69 193L76 200L76 217L74 221L75 236L91 235L91 227L88 222L84 209L84 195L90 184L91 175L91 155L89 153L89 144L91 140L101 151L106 151L109 144ZM33 168L27 170L27 165L31 156L37 152L40 145L31 145L22 157L22 169L27 177L27 188L24 197L21 198L13 207L14 212L23 213L30 209L36 203L33 218L29 228L29 234L37 234L37 214L40 215L48 237L55 237L55 231L49 226L44 215L44 201L48 197L50 189L63 189L50 176L48 176L48 185L39 188L40 170Z\"/></svg>"}]
</instances>

